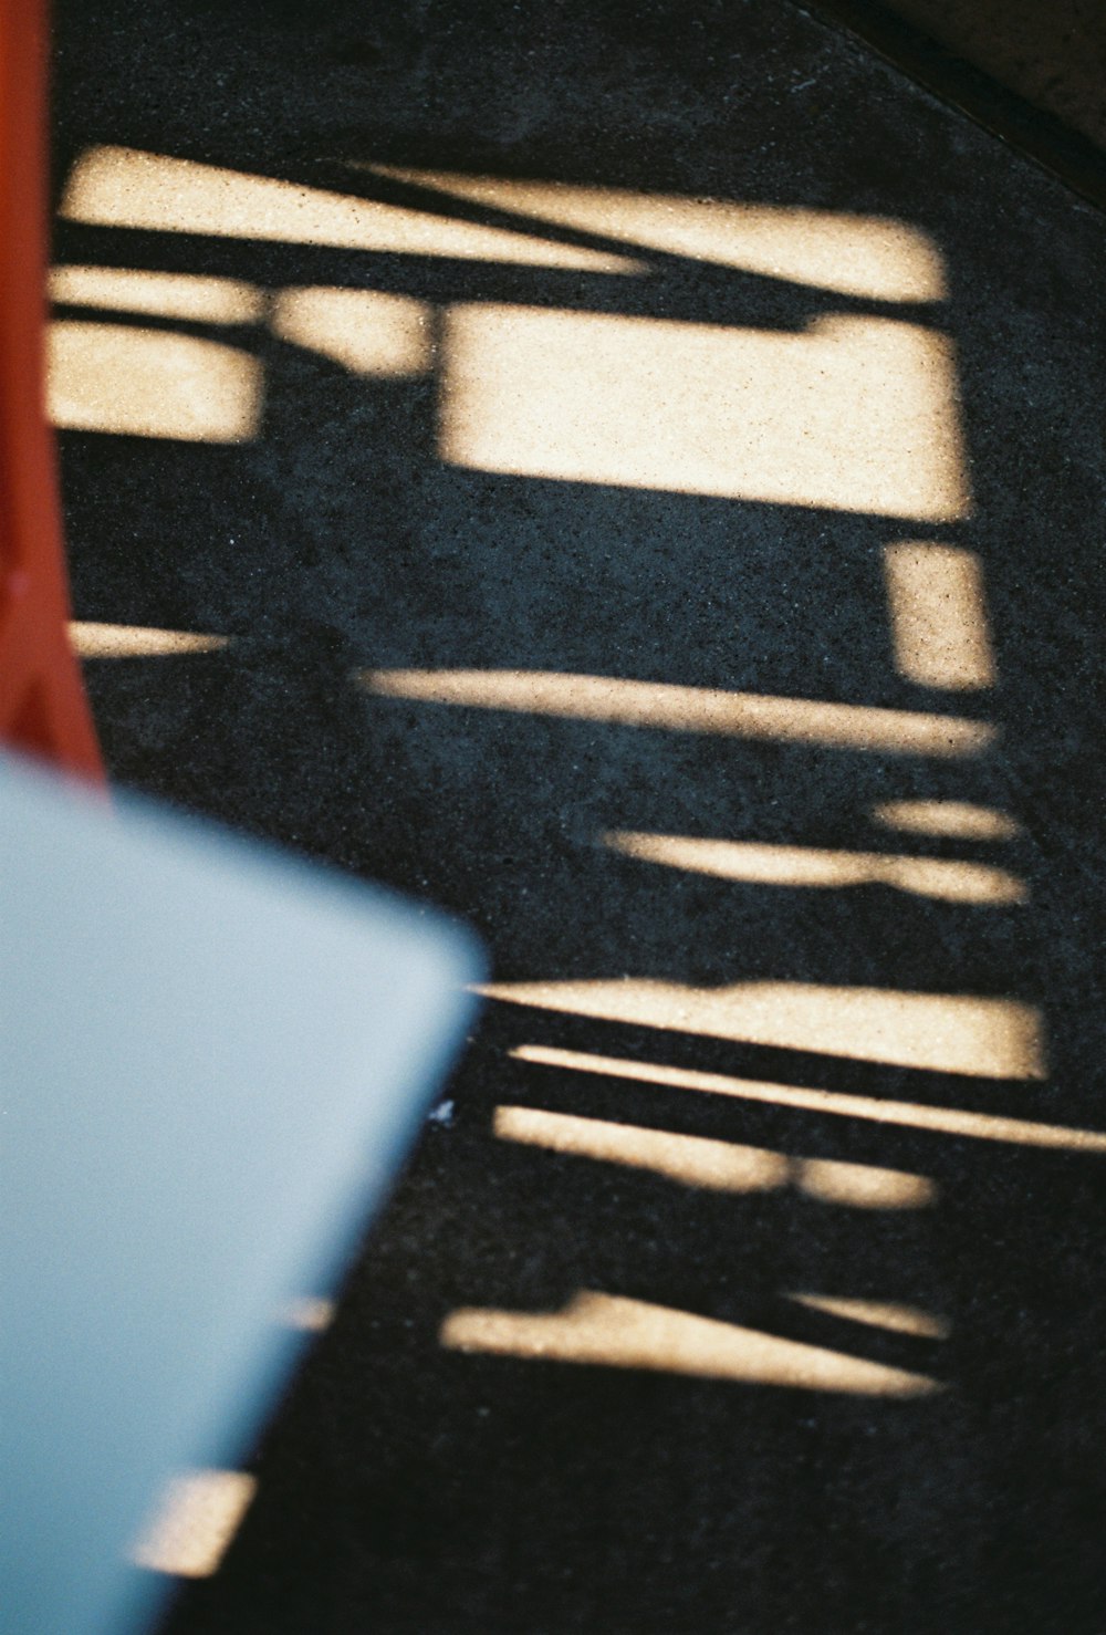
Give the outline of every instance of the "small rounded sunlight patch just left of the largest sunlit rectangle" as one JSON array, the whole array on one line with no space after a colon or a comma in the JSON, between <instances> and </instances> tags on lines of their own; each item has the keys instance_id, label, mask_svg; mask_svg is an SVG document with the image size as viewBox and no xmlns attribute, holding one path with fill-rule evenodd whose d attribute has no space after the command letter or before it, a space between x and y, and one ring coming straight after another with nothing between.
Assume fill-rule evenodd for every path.
<instances>
[{"instance_id":1,"label":"small rounded sunlight patch just left of the largest sunlit rectangle","mask_svg":"<svg viewBox=\"0 0 1106 1635\"><path fill-rule=\"evenodd\" d=\"M425 374L431 366L430 307L379 289L283 289L273 334L332 358L355 374Z\"/></svg>"}]
</instances>

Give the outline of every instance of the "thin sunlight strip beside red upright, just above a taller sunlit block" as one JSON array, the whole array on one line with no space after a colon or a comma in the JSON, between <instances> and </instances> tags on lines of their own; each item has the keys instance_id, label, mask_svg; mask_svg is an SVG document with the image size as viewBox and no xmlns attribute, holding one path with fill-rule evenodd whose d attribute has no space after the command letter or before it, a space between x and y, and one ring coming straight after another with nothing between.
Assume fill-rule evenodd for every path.
<instances>
[{"instance_id":1,"label":"thin sunlight strip beside red upright, just above a taller sunlit block","mask_svg":"<svg viewBox=\"0 0 1106 1635\"><path fill-rule=\"evenodd\" d=\"M256 324L265 316L265 296L255 284L137 267L54 267L49 296L64 306L154 312L198 324Z\"/></svg>"}]
</instances>

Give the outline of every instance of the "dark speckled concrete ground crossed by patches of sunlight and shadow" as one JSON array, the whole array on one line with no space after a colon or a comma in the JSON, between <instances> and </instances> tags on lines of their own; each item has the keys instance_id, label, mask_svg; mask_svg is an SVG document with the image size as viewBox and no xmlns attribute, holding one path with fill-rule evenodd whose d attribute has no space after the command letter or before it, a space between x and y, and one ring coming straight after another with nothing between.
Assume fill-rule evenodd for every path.
<instances>
[{"instance_id":1,"label":"dark speckled concrete ground crossed by patches of sunlight and shadow","mask_svg":"<svg viewBox=\"0 0 1106 1635\"><path fill-rule=\"evenodd\" d=\"M421 302L430 337L421 361L374 371L288 324L121 319L70 288L62 317L230 345L263 379L240 441L62 432L77 618L232 638L90 657L88 685L121 783L446 904L487 938L500 991L526 988L488 1002L453 1120L428 1125L256 1450L243 1525L221 1570L181 1588L167 1635L1101 1632L1106 1158L1026 1131L1106 1125L1103 219L781 3L320 10L57 7L57 263L230 278L274 301L382 291ZM266 217L225 180L247 199L230 229L183 204L168 226L126 208L95 221L72 185L101 146L498 226L515 260L292 242L283 204ZM551 244L629 252L601 226L534 227L503 193L457 201L364 164L823 213L787 217L814 239L833 217L885 217L930 245L944 294L931 273L858 293L833 271L802 281L786 255L720 265L694 247L639 247L632 276L583 253L559 265ZM546 250L526 263L520 240ZM466 415L488 373L479 347L467 376L456 361L459 306L562 316L497 353L484 441ZM614 325L580 330L606 337L595 368L590 338L559 350L565 314ZM890 368L882 409L871 376L856 397L827 365L818 407L804 347L827 320L854 338L912 325L923 363ZM681 324L709 332L686 368ZM934 334L952 350L925 352ZM727 358L738 374L760 360L742 387L756 459ZM899 437L934 368L944 407ZM631 401L636 379L655 405ZM722 430L716 399L737 414ZM926 437L962 473L943 468L915 504ZM815 450L817 481L804 438L836 448L828 468ZM881 440L899 477L876 492ZM681 490L676 446L716 479ZM642 450L655 482L626 476ZM885 551L903 541L974 553L987 639L972 647L961 616L972 674L954 687L892 639ZM923 652L939 647L928 629ZM443 703L395 697L410 679L366 690L364 670L492 679ZM502 708L503 672L552 672L560 692L523 675ZM699 693L580 677L722 703L691 731ZM799 703L719 731L737 695ZM902 714L866 737L871 718L810 700L951 716L969 747L925 723L905 742ZM970 803L1019 831L881 826L892 801ZM704 873L686 845L658 862L658 842L604 842L627 832L745 849ZM952 870L938 896L902 862L848 883L854 852ZM923 999L910 1020L926 994L967 1012ZM969 1017L967 1043L949 1015ZM582 1071L582 1055L603 1063ZM717 1094L704 1073L783 1091ZM863 1100L827 1110L796 1087ZM885 1104L915 1112L881 1122ZM660 1146L606 1131L595 1156L593 1125L511 1125L503 1107ZM552 1151L565 1130L593 1156ZM734 1144L776 1154L748 1161L758 1182L711 1171ZM881 1182L871 1207L854 1172L814 1159L913 1180L897 1197ZM804 1182L827 1174L840 1184ZM608 1297L590 1351L555 1324L580 1293ZM864 1321L827 1300L867 1301ZM632 1344L619 1301L637 1303ZM457 1328L472 1311L505 1316ZM528 1313L549 1315L544 1339ZM830 1373L796 1372L810 1352L771 1341L817 1347ZM899 1393L902 1370L941 1388Z\"/></svg>"}]
</instances>

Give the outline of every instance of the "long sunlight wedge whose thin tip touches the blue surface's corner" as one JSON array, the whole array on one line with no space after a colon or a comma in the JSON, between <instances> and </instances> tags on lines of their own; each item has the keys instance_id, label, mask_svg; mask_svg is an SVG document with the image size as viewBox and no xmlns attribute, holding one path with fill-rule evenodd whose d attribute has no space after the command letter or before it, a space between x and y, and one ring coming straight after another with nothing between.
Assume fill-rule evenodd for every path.
<instances>
[{"instance_id":1,"label":"long sunlight wedge whose thin tip touches the blue surface's corner","mask_svg":"<svg viewBox=\"0 0 1106 1635\"><path fill-rule=\"evenodd\" d=\"M974 994L820 983L691 988L650 978L488 983L487 999L570 1015L702 1033L743 1045L825 1051L980 1079L1042 1079L1044 1024L1034 1006Z\"/></svg>"}]
</instances>

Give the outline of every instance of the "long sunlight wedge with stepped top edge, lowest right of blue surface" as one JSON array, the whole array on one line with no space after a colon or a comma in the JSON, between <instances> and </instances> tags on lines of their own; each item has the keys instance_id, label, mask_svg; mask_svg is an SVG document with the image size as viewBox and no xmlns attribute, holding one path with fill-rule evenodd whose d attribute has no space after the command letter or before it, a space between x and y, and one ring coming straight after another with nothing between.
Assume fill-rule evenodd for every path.
<instances>
[{"instance_id":1,"label":"long sunlight wedge with stepped top edge, lowest right of blue surface","mask_svg":"<svg viewBox=\"0 0 1106 1635\"><path fill-rule=\"evenodd\" d=\"M647 1368L738 1385L783 1385L850 1396L928 1396L936 1380L823 1346L675 1311L644 1300L582 1290L564 1311L462 1306L441 1328L449 1351L534 1362Z\"/></svg>"}]
</instances>

